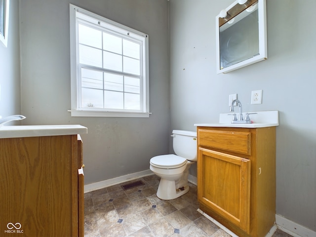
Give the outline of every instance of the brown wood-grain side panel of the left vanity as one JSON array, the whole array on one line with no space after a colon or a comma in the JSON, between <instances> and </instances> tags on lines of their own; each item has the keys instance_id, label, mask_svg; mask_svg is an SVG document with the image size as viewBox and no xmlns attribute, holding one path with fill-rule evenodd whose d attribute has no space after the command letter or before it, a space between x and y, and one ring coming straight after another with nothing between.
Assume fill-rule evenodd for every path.
<instances>
[{"instance_id":1,"label":"brown wood-grain side panel of the left vanity","mask_svg":"<svg viewBox=\"0 0 316 237\"><path fill-rule=\"evenodd\" d=\"M0 233L4 233L7 223L19 222L23 230L19 236L78 235L78 219L73 219L74 213L78 217L78 205L73 203L78 195L74 193L74 174L78 172L74 170L77 159L75 164L73 160L77 156L75 139L0 139L0 223L4 223Z\"/></svg>"}]
</instances>

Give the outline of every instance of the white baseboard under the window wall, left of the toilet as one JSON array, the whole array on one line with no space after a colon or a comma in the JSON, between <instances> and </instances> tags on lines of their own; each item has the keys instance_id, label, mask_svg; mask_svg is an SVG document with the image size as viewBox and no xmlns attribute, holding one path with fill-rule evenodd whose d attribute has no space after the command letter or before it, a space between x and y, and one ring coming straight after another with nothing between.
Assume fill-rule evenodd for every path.
<instances>
[{"instance_id":1,"label":"white baseboard under the window wall, left of the toilet","mask_svg":"<svg viewBox=\"0 0 316 237\"><path fill-rule=\"evenodd\" d=\"M116 177L116 178L113 178L113 179L107 179L107 180L103 180L103 181L100 181L100 182L87 184L87 185L84 185L84 193L88 193L88 192L91 192L91 191L103 189L103 188L106 188L106 187L110 187L112 185L124 183L124 182L130 181L130 180L142 178L142 177L149 176L149 175L152 175L152 174L153 174L153 172L150 169L148 169L148 170L140 171L140 172L137 172L137 173L132 173L132 174L124 175L124 176L119 176L119 177Z\"/></svg>"}]
</instances>

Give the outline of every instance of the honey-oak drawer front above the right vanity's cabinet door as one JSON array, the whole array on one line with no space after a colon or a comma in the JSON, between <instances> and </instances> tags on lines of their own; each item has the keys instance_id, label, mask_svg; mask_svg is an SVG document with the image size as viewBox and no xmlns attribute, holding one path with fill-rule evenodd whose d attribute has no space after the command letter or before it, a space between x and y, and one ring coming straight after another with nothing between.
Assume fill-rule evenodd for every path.
<instances>
[{"instance_id":1,"label":"honey-oak drawer front above the right vanity's cabinet door","mask_svg":"<svg viewBox=\"0 0 316 237\"><path fill-rule=\"evenodd\" d=\"M198 146L251 155L251 133L198 129Z\"/></svg>"}]
</instances>

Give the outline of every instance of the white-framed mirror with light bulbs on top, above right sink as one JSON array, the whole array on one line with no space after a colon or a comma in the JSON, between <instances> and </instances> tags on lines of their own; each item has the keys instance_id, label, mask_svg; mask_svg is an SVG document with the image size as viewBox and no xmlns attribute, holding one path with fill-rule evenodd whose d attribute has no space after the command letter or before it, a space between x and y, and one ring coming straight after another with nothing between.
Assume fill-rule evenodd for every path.
<instances>
[{"instance_id":1,"label":"white-framed mirror with light bulbs on top, above right sink","mask_svg":"<svg viewBox=\"0 0 316 237\"><path fill-rule=\"evenodd\" d=\"M267 59L266 0L236 0L216 16L217 74Z\"/></svg>"}]
</instances>

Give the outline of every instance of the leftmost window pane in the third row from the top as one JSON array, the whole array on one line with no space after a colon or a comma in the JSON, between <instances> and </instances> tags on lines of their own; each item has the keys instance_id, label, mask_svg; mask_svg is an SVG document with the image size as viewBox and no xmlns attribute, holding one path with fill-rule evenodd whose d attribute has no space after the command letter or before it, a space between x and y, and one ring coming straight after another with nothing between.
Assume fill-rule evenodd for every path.
<instances>
[{"instance_id":1,"label":"leftmost window pane in the third row from the top","mask_svg":"<svg viewBox=\"0 0 316 237\"><path fill-rule=\"evenodd\" d=\"M102 72L81 68L81 86L103 89Z\"/></svg>"}]
</instances>

